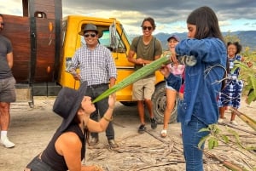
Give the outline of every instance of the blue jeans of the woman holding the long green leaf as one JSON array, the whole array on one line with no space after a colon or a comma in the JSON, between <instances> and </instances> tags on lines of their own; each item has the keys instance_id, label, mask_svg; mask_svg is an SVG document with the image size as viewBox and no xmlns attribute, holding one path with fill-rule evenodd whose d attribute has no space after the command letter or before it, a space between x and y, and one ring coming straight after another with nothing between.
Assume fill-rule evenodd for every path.
<instances>
[{"instance_id":1,"label":"blue jeans of the woman holding the long green leaf","mask_svg":"<svg viewBox=\"0 0 256 171\"><path fill-rule=\"evenodd\" d=\"M198 132L201 128L207 128L196 117L192 116L189 124L181 123L183 133L183 155L186 160L186 171L203 171L203 152L198 149L201 138L207 136L209 132ZM204 145L201 146L201 149Z\"/></svg>"}]
</instances>

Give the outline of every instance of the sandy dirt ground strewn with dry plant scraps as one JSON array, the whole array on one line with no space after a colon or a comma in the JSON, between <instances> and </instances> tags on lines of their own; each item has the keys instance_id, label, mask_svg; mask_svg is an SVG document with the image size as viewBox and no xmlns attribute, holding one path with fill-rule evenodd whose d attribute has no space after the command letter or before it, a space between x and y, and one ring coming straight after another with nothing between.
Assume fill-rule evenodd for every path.
<instances>
[{"instance_id":1,"label":"sandy dirt ground strewn with dry plant scraps","mask_svg":"<svg viewBox=\"0 0 256 171\"><path fill-rule=\"evenodd\" d=\"M1 171L22 171L33 157L44 150L55 129L61 123L61 117L52 111L54 100L54 97L37 97L34 108L30 108L26 102L11 105L9 139L15 142L15 148L7 149L3 145L0 146ZM240 111L256 120L256 102L246 105L244 100L242 101ZM226 112L226 117L230 118L230 111ZM185 169L179 123L170 124L168 136L162 139L160 138L162 125L151 130L148 122L148 132L137 133L139 119L136 106L128 107L117 102L113 118L115 139L119 143L119 148L114 151L109 149L105 133L101 133L100 143L94 148L87 148L85 164L97 164L106 171ZM239 134L242 145L255 146L256 134L253 128L247 126L239 117L236 117L236 121L239 123L237 128L243 130L223 125L219 125L219 128L224 131L226 128L235 130ZM230 133L227 132L227 134ZM247 170L256 170L255 152L228 145L219 145L218 148L209 152ZM204 162L206 171L230 170L207 155L204 156Z\"/></svg>"}]
</instances>

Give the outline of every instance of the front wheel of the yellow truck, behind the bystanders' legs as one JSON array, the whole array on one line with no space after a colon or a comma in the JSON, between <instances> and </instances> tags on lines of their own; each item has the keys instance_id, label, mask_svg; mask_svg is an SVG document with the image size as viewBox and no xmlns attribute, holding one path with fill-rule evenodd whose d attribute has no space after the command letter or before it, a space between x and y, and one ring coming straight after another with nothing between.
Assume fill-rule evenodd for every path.
<instances>
[{"instance_id":1,"label":"front wheel of the yellow truck, behind the bystanders' legs","mask_svg":"<svg viewBox=\"0 0 256 171\"><path fill-rule=\"evenodd\" d=\"M169 123L177 123L177 98ZM155 87L154 94L152 95L152 103L154 117L158 123L164 123L164 111L166 110L166 83L160 83Z\"/></svg>"}]
</instances>

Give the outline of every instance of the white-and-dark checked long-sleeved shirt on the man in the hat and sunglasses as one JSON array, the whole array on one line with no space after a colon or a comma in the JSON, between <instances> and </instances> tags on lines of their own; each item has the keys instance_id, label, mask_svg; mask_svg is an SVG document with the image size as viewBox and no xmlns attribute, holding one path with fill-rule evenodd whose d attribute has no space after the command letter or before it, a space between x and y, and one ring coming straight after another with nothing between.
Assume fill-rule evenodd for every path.
<instances>
[{"instance_id":1,"label":"white-and-dark checked long-sleeved shirt on the man in the hat and sunglasses","mask_svg":"<svg viewBox=\"0 0 256 171\"><path fill-rule=\"evenodd\" d=\"M111 77L117 77L117 70L110 50L101 44L90 49L86 45L79 48L72 59L71 69L80 69L81 82L88 85L109 83Z\"/></svg>"}]
</instances>

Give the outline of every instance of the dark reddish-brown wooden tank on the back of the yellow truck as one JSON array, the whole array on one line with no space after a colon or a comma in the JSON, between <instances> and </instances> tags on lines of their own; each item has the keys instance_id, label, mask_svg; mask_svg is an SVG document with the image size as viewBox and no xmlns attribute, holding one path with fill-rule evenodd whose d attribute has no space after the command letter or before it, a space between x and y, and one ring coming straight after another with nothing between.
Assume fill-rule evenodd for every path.
<instances>
[{"instance_id":1,"label":"dark reddish-brown wooden tank on the back of the yellow truck","mask_svg":"<svg viewBox=\"0 0 256 171\"><path fill-rule=\"evenodd\" d=\"M22 0L23 16L3 14L3 35L13 44L17 88L55 95L61 58L61 0Z\"/></svg>"}]
</instances>

